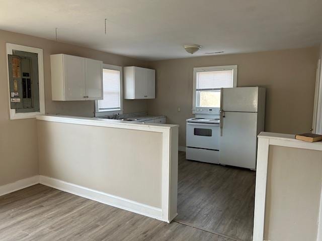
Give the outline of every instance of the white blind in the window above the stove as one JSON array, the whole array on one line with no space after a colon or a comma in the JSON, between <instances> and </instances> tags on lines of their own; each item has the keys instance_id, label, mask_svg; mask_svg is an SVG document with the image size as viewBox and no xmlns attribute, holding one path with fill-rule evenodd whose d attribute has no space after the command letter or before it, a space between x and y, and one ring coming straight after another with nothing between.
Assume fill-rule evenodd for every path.
<instances>
[{"instance_id":1,"label":"white blind in the window above the stove","mask_svg":"<svg viewBox=\"0 0 322 241\"><path fill-rule=\"evenodd\" d=\"M196 90L214 90L233 86L233 70L197 72Z\"/></svg>"}]
</instances>

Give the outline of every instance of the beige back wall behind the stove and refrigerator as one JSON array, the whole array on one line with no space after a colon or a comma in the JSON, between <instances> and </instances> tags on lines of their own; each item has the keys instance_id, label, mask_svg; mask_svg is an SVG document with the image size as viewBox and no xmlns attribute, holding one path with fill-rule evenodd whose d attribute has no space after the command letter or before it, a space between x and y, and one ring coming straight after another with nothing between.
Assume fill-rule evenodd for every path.
<instances>
[{"instance_id":1,"label":"beige back wall behind the stove and refrigerator","mask_svg":"<svg viewBox=\"0 0 322 241\"><path fill-rule=\"evenodd\" d=\"M309 132L317 58L318 48L312 47L150 62L156 69L156 98L148 100L148 112L179 124L179 145L185 146L185 121L193 116L193 68L237 64L237 86L267 88L266 131Z\"/></svg>"}]
</instances>

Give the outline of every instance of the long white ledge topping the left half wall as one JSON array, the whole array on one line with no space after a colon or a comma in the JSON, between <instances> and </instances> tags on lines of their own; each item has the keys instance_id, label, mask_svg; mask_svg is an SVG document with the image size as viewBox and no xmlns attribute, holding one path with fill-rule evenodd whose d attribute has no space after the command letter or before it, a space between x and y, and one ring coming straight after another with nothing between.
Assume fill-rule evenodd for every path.
<instances>
[{"instance_id":1,"label":"long white ledge topping the left half wall","mask_svg":"<svg viewBox=\"0 0 322 241\"><path fill-rule=\"evenodd\" d=\"M121 121L120 119L105 119L105 118L96 118L96 117L80 117L80 116L68 116L68 115L37 115L37 120L76 124L76 125L111 127L111 128L155 131L155 132L163 132L162 130L165 130L165 129L179 127L178 125L170 125L170 124L127 122L127 121Z\"/></svg>"}]
</instances>

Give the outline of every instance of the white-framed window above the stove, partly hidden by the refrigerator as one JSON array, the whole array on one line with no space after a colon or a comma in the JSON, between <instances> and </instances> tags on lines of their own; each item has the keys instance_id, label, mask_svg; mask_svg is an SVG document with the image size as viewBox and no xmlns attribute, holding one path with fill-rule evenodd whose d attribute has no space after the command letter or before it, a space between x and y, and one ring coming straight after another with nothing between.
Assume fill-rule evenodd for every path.
<instances>
[{"instance_id":1,"label":"white-framed window above the stove, partly hidden by the refrigerator","mask_svg":"<svg viewBox=\"0 0 322 241\"><path fill-rule=\"evenodd\" d=\"M237 65L194 68L193 113L220 108L220 88L236 87Z\"/></svg>"}]
</instances>

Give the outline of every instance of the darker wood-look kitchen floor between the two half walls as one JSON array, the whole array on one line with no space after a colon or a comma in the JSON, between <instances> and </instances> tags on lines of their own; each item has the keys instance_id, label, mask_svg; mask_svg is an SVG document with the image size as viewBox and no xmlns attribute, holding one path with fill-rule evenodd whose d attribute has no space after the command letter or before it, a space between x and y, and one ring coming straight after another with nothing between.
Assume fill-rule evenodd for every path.
<instances>
[{"instance_id":1,"label":"darker wood-look kitchen floor between the two half walls","mask_svg":"<svg viewBox=\"0 0 322 241\"><path fill-rule=\"evenodd\" d=\"M175 220L252 240L256 172L186 160L179 152L178 216Z\"/></svg>"}]
</instances>

